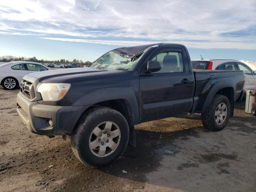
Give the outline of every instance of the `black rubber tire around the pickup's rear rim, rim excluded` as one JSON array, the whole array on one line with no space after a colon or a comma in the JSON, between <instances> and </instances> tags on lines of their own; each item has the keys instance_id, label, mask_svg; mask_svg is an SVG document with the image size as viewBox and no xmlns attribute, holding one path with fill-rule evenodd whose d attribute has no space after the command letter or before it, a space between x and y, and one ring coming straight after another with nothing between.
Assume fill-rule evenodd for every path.
<instances>
[{"instance_id":1,"label":"black rubber tire around the pickup's rear rim, rim excluded","mask_svg":"<svg viewBox=\"0 0 256 192\"><path fill-rule=\"evenodd\" d=\"M222 124L217 124L215 120L215 111L220 103L226 104L227 115L226 119L224 120L224 122L222 122ZM204 127L211 131L222 130L228 124L228 120L230 118L230 110L231 107L228 98L224 95L216 94L212 100L212 103L210 104L209 109L201 114L201 119Z\"/></svg>"}]
</instances>

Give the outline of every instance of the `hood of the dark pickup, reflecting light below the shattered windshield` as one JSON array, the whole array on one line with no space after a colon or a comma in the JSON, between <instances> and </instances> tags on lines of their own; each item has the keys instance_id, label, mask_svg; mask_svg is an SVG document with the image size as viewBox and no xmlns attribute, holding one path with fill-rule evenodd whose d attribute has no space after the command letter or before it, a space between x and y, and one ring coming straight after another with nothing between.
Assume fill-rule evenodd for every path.
<instances>
[{"instance_id":1,"label":"hood of the dark pickup, reflecting light below the shattered windshield","mask_svg":"<svg viewBox=\"0 0 256 192\"><path fill-rule=\"evenodd\" d=\"M124 72L122 70L99 70L93 68L69 68L69 69L57 69L57 70L48 70L44 72L35 72L30 73L28 76L32 76L34 78L38 78L40 82L50 79L50 78L61 78L63 76L71 76L71 75L82 75L82 76L94 76L101 74L112 74Z\"/></svg>"}]
</instances>

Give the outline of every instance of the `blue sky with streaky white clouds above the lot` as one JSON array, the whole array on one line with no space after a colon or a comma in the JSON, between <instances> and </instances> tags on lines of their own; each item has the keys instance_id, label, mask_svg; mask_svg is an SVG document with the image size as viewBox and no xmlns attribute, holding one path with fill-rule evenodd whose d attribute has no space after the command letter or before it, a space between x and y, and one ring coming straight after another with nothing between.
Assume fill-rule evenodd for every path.
<instances>
[{"instance_id":1,"label":"blue sky with streaky white clouds above the lot","mask_svg":"<svg viewBox=\"0 0 256 192\"><path fill-rule=\"evenodd\" d=\"M192 59L256 61L255 0L0 1L0 56L93 61L123 46L174 42Z\"/></svg>"}]
</instances>

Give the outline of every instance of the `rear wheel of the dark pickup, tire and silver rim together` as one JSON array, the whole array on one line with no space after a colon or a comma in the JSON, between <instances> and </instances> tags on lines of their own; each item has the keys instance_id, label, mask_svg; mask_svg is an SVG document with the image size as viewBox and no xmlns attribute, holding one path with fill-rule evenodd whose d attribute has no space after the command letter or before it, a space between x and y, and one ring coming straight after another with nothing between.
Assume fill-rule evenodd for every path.
<instances>
[{"instance_id":1,"label":"rear wheel of the dark pickup, tire and silver rim together","mask_svg":"<svg viewBox=\"0 0 256 192\"><path fill-rule=\"evenodd\" d=\"M228 123L230 117L230 102L224 95L216 94L209 109L201 114L204 127L211 131L220 131Z\"/></svg>"}]
</instances>

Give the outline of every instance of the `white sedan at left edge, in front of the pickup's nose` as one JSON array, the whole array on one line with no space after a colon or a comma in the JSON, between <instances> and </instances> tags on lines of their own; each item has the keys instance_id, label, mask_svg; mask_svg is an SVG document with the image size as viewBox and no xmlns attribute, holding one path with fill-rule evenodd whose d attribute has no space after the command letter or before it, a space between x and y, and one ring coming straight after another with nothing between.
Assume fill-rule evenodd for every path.
<instances>
[{"instance_id":1,"label":"white sedan at left edge, in front of the pickup's nose","mask_svg":"<svg viewBox=\"0 0 256 192\"><path fill-rule=\"evenodd\" d=\"M47 70L46 66L36 62L14 61L0 64L0 85L11 90L20 85L26 74Z\"/></svg>"}]
</instances>

